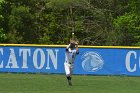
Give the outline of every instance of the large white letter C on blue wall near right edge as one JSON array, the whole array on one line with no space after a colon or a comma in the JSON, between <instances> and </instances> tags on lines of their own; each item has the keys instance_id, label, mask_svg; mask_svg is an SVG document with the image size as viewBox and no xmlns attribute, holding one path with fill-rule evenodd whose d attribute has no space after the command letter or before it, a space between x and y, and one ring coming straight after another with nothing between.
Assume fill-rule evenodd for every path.
<instances>
[{"instance_id":1,"label":"large white letter C on blue wall near right edge","mask_svg":"<svg viewBox=\"0 0 140 93\"><path fill-rule=\"evenodd\" d=\"M126 69L129 71L129 72L134 72L136 71L136 64L134 65L134 67L130 67L130 64L131 64L131 58L134 58L136 59L137 58L137 55L136 55L136 52L135 51L129 51L126 55L126 61L125 61L125 64L126 64Z\"/></svg>"}]
</instances>

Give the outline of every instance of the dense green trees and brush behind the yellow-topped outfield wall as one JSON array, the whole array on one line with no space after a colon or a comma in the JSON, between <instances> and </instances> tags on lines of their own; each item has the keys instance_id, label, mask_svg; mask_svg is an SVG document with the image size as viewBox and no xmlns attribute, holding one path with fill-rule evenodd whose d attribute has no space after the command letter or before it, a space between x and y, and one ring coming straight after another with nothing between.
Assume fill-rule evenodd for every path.
<instances>
[{"instance_id":1,"label":"dense green trees and brush behind the yellow-topped outfield wall","mask_svg":"<svg viewBox=\"0 0 140 93\"><path fill-rule=\"evenodd\" d=\"M139 0L5 0L5 43L138 45ZM2 40L2 39L1 39Z\"/></svg>"}]
</instances>

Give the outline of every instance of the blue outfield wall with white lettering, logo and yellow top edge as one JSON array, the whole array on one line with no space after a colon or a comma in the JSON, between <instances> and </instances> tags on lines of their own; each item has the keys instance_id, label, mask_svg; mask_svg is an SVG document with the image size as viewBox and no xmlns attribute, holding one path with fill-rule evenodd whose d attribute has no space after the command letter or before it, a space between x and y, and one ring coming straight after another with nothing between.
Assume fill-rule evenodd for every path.
<instances>
[{"instance_id":1,"label":"blue outfield wall with white lettering, logo and yellow top edge","mask_svg":"<svg viewBox=\"0 0 140 93\"><path fill-rule=\"evenodd\" d=\"M62 73L65 46L0 46L0 72ZM140 76L140 48L79 47L73 74Z\"/></svg>"}]
</instances>

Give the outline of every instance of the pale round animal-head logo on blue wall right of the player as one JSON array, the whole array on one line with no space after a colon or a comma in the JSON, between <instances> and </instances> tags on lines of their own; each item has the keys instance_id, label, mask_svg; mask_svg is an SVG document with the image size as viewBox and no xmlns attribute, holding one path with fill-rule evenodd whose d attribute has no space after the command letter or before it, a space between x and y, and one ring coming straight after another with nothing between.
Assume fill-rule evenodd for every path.
<instances>
[{"instance_id":1,"label":"pale round animal-head logo on blue wall right of the player","mask_svg":"<svg viewBox=\"0 0 140 93\"><path fill-rule=\"evenodd\" d=\"M97 52L86 52L82 55L82 67L87 72L95 72L102 69L104 60Z\"/></svg>"}]
</instances>

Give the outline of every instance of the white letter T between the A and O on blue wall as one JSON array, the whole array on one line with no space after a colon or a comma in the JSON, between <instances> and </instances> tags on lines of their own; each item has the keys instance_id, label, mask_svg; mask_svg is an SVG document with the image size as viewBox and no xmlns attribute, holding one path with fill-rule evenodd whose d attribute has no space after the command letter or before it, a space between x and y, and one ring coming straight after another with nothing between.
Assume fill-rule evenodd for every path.
<instances>
[{"instance_id":1,"label":"white letter T between the A and O on blue wall","mask_svg":"<svg viewBox=\"0 0 140 93\"><path fill-rule=\"evenodd\" d=\"M31 56L30 49L19 49L19 56L23 57L22 68L28 68L28 66L27 66L28 55Z\"/></svg>"}]
</instances>

